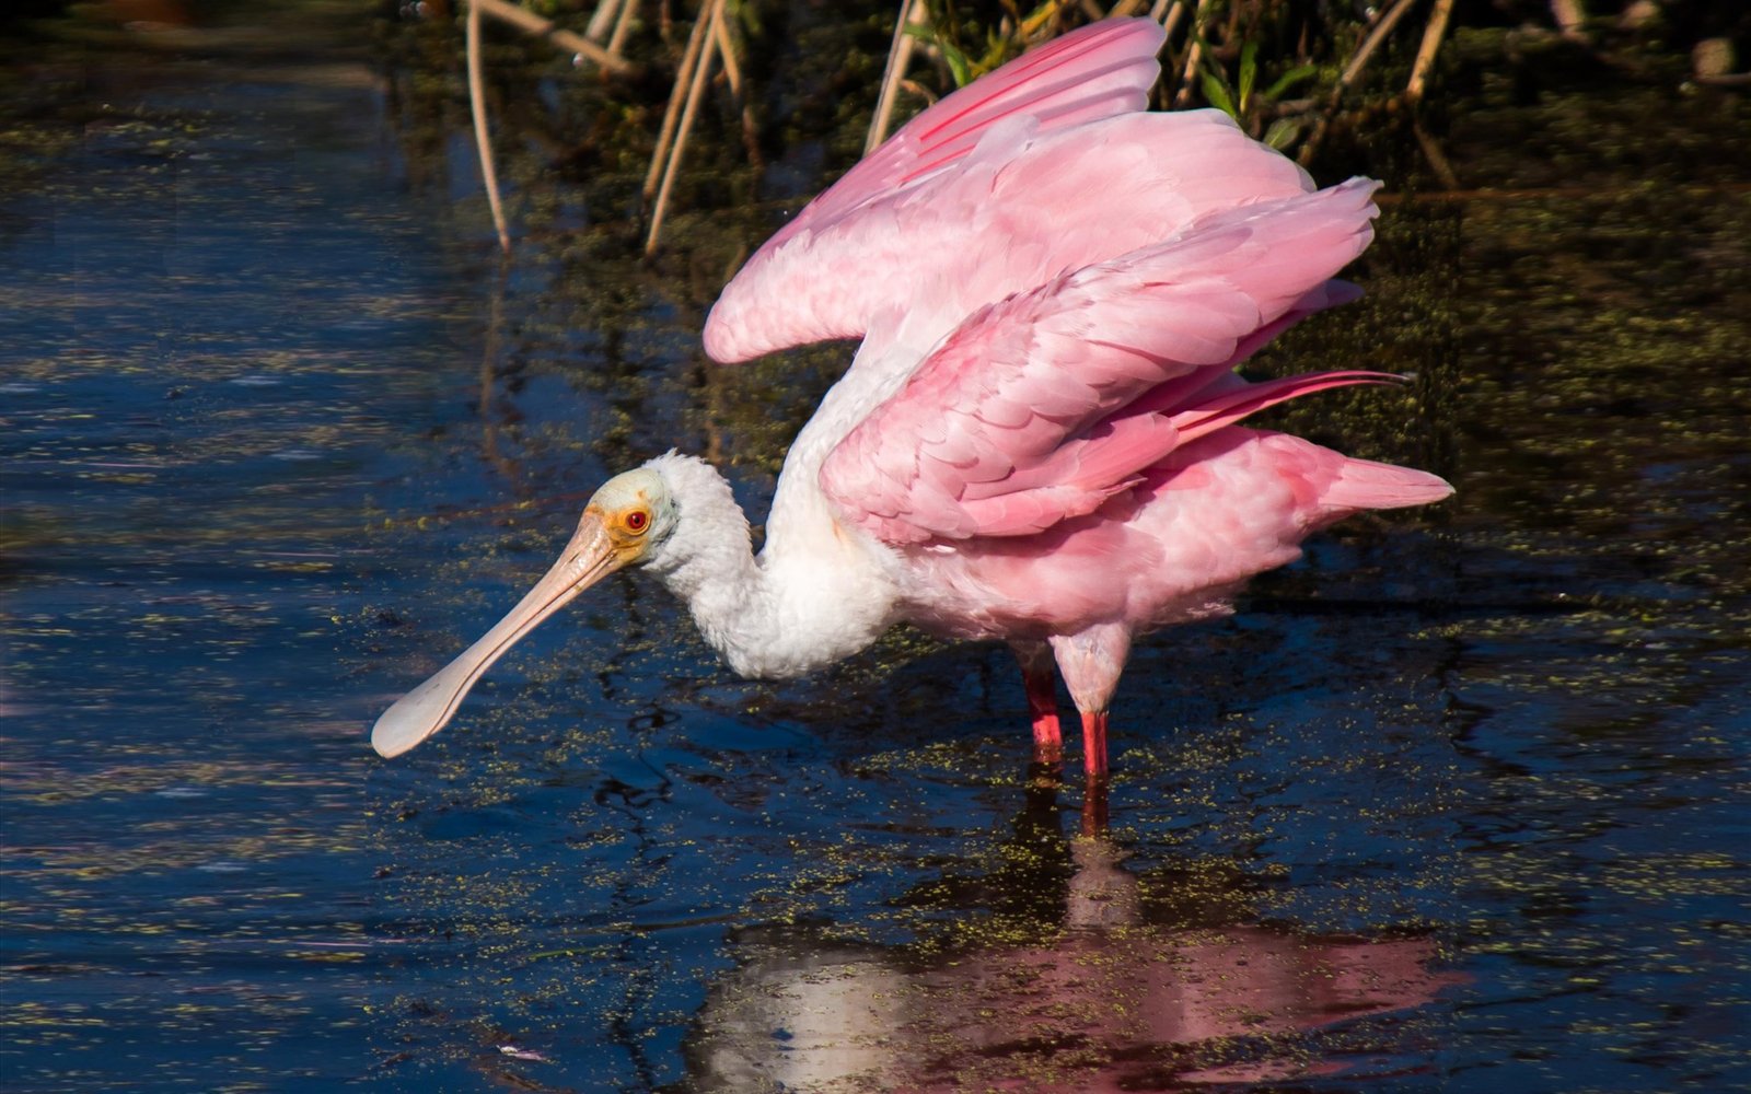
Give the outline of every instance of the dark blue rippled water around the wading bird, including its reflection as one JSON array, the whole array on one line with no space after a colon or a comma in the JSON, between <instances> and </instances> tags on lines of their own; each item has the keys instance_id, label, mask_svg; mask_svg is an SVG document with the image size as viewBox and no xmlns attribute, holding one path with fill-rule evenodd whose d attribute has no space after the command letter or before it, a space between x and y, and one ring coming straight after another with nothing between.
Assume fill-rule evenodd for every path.
<instances>
[{"instance_id":1,"label":"dark blue rippled water around the wading bird, including its reflection","mask_svg":"<svg viewBox=\"0 0 1751 1094\"><path fill-rule=\"evenodd\" d=\"M1142 644L1087 838L1007 653L748 684L637 578L371 756L608 471L763 511L846 348L697 333L844 142L702 152L695 200L776 203L644 264L639 165L518 130L499 264L450 44L343 7L7 44L7 1089L1751 1083L1740 100L1466 86L1497 189L1390 203L1369 296L1259 362L1415 371L1276 422L1459 495Z\"/></svg>"}]
</instances>

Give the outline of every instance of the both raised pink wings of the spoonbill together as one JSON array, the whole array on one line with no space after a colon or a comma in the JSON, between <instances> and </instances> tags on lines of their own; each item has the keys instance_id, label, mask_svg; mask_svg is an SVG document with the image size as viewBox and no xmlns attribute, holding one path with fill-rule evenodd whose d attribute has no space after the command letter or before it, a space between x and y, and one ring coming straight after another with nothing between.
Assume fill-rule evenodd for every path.
<instances>
[{"instance_id":1,"label":"both raised pink wings of the spoonbill together","mask_svg":"<svg viewBox=\"0 0 1751 1094\"><path fill-rule=\"evenodd\" d=\"M1331 278L1373 240L1378 184L1313 191L1222 114L1143 114L1159 44L1152 23L1098 23L944 98L713 308L725 361L868 334L847 380L874 397L818 485L879 541L1037 536L1257 410L1390 380L1231 371L1354 299Z\"/></svg>"}]
</instances>

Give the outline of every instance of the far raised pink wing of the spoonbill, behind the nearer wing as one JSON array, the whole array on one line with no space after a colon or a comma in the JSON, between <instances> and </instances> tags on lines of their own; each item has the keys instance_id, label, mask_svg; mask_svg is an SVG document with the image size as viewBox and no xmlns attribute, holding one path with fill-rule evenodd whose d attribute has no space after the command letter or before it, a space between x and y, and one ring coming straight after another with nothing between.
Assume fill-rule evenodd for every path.
<instances>
[{"instance_id":1,"label":"far raised pink wing of the spoonbill, behind the nearer wing","mask_svg":"<svg viewBox=\"0 0 1751 1094\"><path fill-rule=\"evenodd\" d=\"M1138 114L1159 40L1149 21L1098 23L916 117L748 261L706 350L746 361L900 313L930 345L1063 270L1313 189L1219 110Z\"/></svg>"}]
</instances>

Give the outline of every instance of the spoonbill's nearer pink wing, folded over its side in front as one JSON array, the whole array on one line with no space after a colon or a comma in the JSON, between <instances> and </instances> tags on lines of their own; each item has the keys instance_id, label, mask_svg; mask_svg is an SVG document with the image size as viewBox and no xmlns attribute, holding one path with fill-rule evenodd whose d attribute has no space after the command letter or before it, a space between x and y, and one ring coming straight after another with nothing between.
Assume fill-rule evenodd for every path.
<instances>
[{"instance_id":1,"label":"spoonbill's nearer pink wing, folded over its side in front","mask_svg":"<svg viewBox=\"0 0 1751 1094\"><path fill-rule=\"evenodd\" d=\"M1380 378L1229 371L1348 298L1326 282L1373 240L1376 186L1222 212L982 308L828 453L823 492L886 543L1028 536L1255 410Z\"/></svg>"}]
</instances>

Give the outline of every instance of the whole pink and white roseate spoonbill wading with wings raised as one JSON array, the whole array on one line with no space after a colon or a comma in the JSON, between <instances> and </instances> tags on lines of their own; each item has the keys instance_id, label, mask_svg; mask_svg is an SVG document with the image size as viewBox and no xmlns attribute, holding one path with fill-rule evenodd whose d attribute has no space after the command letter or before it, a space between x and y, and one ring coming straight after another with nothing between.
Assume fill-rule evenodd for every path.
<instances>
[{"instance_id":1,"label":"whole pink and white roseate spoonbill wading with wings raised","mask_svg":"<svg viewBox=\"0 0 1751 1094\"><path fill-rule=\"evenodd\" d=\"M376 751L438 732L524 634L643 565L742 676L809 672L902 621L1007 641L1047 761L1056 660L1103 784L1135 634L1229 611L1248 576L1350 513L1446 497L1432 474L1236 425L1390 380L1233 371L1355 296L1331 278L1373 238L1376 184L1317 191L1220 112L1145 112L1161 40L1114 19L1028 53L774 235L713 308L706 350L863 343L790 448L760 555L709 464L671 452L609 480L534 590L376 721Z\"/></svg>"}]
</instances>

